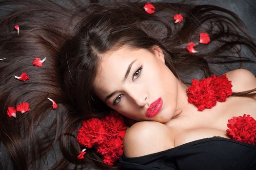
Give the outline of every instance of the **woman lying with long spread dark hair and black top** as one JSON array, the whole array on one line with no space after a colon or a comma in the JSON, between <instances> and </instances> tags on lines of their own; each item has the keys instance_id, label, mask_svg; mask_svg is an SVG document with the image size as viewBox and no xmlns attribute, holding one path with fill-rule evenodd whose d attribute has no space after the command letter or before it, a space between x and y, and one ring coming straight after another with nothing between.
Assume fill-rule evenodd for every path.
<instances>
[{"instance_id":1,"label":"woman lying with long spread dark hair and black top","mask_svg":"<svg viewBox=\"0 0 256 170\"><path fill-rule=\"evenodd\" d=\"M152 14L145 11L144 2L120 6L74 2L68 8L50 2L21 4L29 7L3 19L0 30L1 56L6 58L0 63L4 82L0 135L14 169L45 169L42 160L49 160L58 146L63 157L47 164L48 169L118 169L118 161L113 167L107 166L94 149L86 151L83 159L77 158L81 121L103 118L113 109L139 121L125 136L121 169L225 169L230 164L222 164L223 159L204 167L221 154L205 155L202 148L216 145L218 149L235 148L235 155L243 156L240 162L237 157L227 161L236 161L238 169L242 165L255 168L255 162L249 162L255 160L254 145L226 135L228 119L243 114L256 118L256 78L250 71L227 72L233 95L211 109L199 112L187 102L193 72L202 79L220 75L215 64L254 62L243 57L239 49L244 45L256 54L256 45L234 13L216 6L160 2L154 3L156 12ZM179 13L185 19L175 23L173 16ZM16 31L9 35L8 28L17 23L19 36ZM209 34L209 44L198 42L201 33ZM197 53L186 49L190 42L197 44ZM35 56L47 56L41 69L31 63ZM10 79L21 72L27 72L29 80ZM54 99L58 107L53 110L47 98ZM31 113L6 116L8 106L24 101L29 102ZM181 154L175 161L165 161L167 157L162 155L205 140L213 141L213 145L205 142L206 146L198 145L197 150ZM223 151L228 153L226 157L233 155ZM189 157L191 154L195 156Z\"/></svg>"}]
</instances>

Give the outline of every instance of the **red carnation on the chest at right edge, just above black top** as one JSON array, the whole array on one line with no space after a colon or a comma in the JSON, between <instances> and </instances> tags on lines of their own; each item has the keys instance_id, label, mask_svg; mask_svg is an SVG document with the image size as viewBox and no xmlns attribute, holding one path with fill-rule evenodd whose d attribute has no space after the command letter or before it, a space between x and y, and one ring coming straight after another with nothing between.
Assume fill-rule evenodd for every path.
<instances>
[{"instance_id":1,"label":"red carnation on the chest at right edge, just above black top","mask_svg":"<svg viewBox=\"0 0 256 170\"><path fill-rule=\"evenodd\" d=\"M256 120L250 115L233 117L228 120L227 135L233 140L255 144L256 142Z\"/></svg>"}]
</instances>

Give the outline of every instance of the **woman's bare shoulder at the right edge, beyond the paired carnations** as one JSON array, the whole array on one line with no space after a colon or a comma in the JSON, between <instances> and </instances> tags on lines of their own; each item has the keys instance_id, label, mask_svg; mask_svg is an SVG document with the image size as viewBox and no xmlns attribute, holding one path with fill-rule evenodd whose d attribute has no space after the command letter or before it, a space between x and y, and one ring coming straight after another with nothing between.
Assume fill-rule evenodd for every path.
<instances>
[{"instance_id":1,"label":"woman's bare shoulder at the right edge, beyond the paired carnations","mask_svg":"<svg viewBox=\"0 0 256 170\"><path fill-rule=\"evenodd\" d=\"M226 73L227 78L232 81L232 91L241 92L256 88L256 77L247 69L235 69Z\"/></svg>"}]
</instances>

